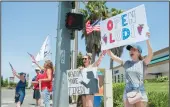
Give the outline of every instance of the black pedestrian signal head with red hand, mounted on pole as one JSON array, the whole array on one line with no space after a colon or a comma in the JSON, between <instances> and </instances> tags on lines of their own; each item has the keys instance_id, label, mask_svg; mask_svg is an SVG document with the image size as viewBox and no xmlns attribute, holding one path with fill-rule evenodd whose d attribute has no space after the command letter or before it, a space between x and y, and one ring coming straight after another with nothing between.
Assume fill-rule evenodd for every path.
<instances>
[{"instance_id":1,"label":"black pedestrian signal head with red hand, mounted on pole","mask_svg":"<svg viewBox=\"0 0 170 107\"><path fill-rule=\"evenodd\" d=\"M79 13L67 13L66 15L66 28L71 30L83 29L84 16Z\"/></svg>"}]
</instances>

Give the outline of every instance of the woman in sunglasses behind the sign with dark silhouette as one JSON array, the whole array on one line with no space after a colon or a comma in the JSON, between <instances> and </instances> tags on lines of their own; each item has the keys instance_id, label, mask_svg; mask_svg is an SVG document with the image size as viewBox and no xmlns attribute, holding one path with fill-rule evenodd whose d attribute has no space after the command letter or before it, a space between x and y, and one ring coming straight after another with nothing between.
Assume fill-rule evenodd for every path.
<instances>
[{"instance_id":1,"label":"woman in sunglasses behind the sign with dark silhouette","mask_svg":"<svg viewBox=\"0 0 170 107\"><path fill-rule=\"evenodd\" d=\"M83 65L84 66L79 67L79 69L83 70L83 68L98 67L98 65L100 64L105 53L106 53L106 51L103 51L102 54L99 56L99 59L96 62L94 62L93 64L91 64L92 54L87 53L85 56L83 56ZM94 94L96 94L96 93L82 95L83 107L93 107Z\"/></svg>"}]
</instances>

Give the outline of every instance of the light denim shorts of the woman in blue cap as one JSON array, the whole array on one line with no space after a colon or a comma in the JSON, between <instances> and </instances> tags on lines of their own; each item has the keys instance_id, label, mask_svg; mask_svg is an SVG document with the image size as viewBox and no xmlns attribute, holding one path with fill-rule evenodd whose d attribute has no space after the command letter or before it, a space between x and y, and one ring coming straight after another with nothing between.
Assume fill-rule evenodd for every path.
<instances>
[{"instance_id":1,"label":"light denim shorts of the woman in blue cap","mask_svg":"<svg viewBox=\"0 0 170 107\"><path fill-rule=\"evenodd\" d=\"M128 92L131 92L133 90L138 90L141 92L142 94L142 100L141 101L144 101L144 102L148 102L148 97L146 95L146 91L145 91L145 88L144 88L144 84L141 84L139 86L139 84L126 84L125 86L125 90L124 90L124 94L123 94L123 100L126 101L127 100L127 93Z\"/></svg>"}]
</instances>

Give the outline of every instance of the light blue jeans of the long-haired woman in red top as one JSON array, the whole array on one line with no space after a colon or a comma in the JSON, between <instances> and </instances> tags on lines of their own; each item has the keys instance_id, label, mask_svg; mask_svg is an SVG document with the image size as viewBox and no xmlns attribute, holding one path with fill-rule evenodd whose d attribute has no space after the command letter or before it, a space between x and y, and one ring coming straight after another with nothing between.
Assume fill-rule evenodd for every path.
<instances>
[{"instance_id":1,"label":"light blue jeans of the long-haired woman in red top","mask_svg":"<svg viewBox=\"0 0 170 107\"><path fill-rule=\"evenodd\" d=\"M43 101L45 107L50 107L50 92L46 89L42 91Z\"/></svg>"}]
</instances>

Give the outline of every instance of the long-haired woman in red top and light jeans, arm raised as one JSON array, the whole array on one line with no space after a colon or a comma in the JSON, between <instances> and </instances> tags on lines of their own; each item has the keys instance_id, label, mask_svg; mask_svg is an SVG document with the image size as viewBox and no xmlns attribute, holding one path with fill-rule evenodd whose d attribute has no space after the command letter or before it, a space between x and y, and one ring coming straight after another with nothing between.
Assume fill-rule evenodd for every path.
<instances>
[{"instance_id":1,"label":"long-haired woman in red top and light jeans, arm raised","mask_svg":"<svg viewBox=\"0 0 170 107\"><path fill-rule=\"evenodd\" d=\"M40 67L38 63L33 61L44 72L37 77L39 83L41 83L42 98L45 107L50 107L50 92L52 92L52 80L53 80L53 63L50 60L45 61L44 68Z\"/></svg>"}]
</instances>

